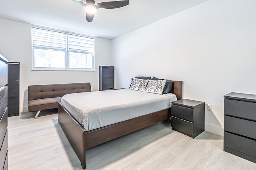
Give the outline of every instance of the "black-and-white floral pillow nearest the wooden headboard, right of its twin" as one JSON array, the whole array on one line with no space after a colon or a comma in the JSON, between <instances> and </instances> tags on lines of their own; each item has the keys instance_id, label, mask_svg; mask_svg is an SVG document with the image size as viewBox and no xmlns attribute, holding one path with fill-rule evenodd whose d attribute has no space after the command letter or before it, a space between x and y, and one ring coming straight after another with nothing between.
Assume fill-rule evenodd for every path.
<instances>
[{"instance_id":1,"label":"black-and-white floral pillow nearest the wooden headboard, right of its twin","mask_svg":"<svg viewBox=\"0 0 256 170\"><path fill-rule=\"evenodd\" d=\"M166 80L149 80L145 92L163 94Z\"/></svg>"}]
</instances>

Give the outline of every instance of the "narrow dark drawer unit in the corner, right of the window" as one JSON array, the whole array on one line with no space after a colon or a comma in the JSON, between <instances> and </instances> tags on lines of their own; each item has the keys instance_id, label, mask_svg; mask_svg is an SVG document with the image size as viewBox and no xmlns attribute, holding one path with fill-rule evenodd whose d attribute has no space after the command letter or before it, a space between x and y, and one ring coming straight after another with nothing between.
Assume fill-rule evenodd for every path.
<instances>
[{"instance_id":1,"label":"narrow dark drawer unit in the corner, right of the window","mask_svg":"<svg viewBox=\"0 0 256 170\"><path fill-rule=\"evenodd\" d=\"M99 90L114 89L114 66L99 66Z\"/></svg>"}]
</instances>

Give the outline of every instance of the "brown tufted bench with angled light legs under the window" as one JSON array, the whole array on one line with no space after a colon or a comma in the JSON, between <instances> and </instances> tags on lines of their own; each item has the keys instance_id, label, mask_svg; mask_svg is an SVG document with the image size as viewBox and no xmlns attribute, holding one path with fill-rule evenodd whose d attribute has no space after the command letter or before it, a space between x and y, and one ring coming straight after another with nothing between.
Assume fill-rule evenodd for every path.
<instances>
[{"instance_id":1,"label":"brown tufted bench with angled light legs under the window","mask_svg":"<svg viewBox=\"0 0 256 170\"><path fill-rule=\"evenodd\" d=\"M48 84L28 86L28 111L58 108L58 102L65 94L91 92L90 83Z\"/></svg>"}]
</instances>

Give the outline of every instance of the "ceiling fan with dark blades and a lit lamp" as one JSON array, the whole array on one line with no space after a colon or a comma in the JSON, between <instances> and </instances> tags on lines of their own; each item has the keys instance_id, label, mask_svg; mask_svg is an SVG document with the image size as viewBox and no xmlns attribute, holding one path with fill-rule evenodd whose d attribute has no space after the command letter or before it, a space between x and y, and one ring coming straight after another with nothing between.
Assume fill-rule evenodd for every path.
<instances>
[{"instance_id":1,"label":"ceiling fan with dark blades and a lit lamp","mask_svg":"<svg viewBox=\"0 0 256 170\"><path fill-rule=\"evenodd\" d=\"M114 8L121 8L129 4L129 0L120 0L120 1L112 1L112 2L101 2L95 4L94 0L73 0L85 7L86 10L86 20L91 22L94 17L94 13L98 8L105 8L105 9L114 9Z\"/></svg>"}]
</instances>

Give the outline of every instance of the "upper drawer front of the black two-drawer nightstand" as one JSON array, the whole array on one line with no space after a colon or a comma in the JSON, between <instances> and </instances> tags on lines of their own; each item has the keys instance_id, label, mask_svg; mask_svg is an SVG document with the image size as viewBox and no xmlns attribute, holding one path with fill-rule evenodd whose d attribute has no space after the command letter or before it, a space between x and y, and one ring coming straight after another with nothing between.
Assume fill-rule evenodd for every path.
<instances>
[{"instance_id":1,"label":"upper drawer front of the black two-drawer nightstand","mask_svg":"<svg viewBox=\"0 0 256 170\"><path fill-rule=\"evenodd\" d=\"M193 109L172 104L172 116L193 122Z\"/></svg>"}]
</instances>

